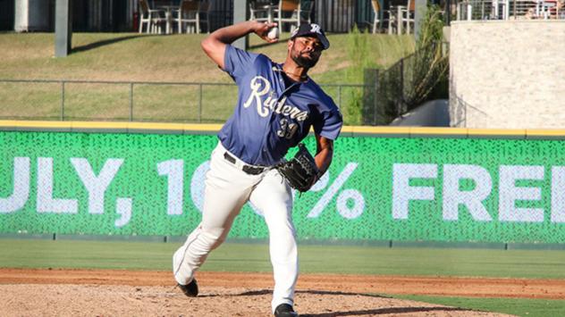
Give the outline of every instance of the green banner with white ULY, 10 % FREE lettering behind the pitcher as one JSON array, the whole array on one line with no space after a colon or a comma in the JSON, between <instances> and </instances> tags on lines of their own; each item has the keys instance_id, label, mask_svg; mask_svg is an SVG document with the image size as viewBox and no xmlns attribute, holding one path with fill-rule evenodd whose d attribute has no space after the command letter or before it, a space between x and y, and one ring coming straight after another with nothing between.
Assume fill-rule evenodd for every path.
<instances>
[{"instance_id":1,"label":"green banner with white ULY, 10 % FREE lettering behind the pitcher","mask_svg":"<svg viewBox=\"0 0 565 317\"><path fill-rule=\"evenodd\" d=\"M0 132L0 233L186 235L216 144ZM564 243L564 152L559 140L342 137L330 170L294 196L294 224L299 238ZM230 237L267 236L247 204Z\"/></svg>"}]
</instances>

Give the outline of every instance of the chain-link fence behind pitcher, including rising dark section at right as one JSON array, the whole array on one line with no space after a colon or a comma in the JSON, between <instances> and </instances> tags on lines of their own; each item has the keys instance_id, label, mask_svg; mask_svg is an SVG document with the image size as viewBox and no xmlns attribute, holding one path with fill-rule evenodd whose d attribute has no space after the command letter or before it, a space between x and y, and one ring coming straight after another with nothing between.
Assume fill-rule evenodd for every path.
<instances>
[{"instance_id":1,"label":"chain-link fence behind pitcher, including rising dark section at right","mask_svg":"<svg viewBox=\"0 0 565 317\"><path fill-rule=\"evenodd\" d=\"M364 84L320 86L340 106L346 125L388 125L426 100L447 98L442 45L426 46L384 71L366 70ZM232 83L0 79L0 119L221 123L236 98Z\"/></svg>"}]
</instances>

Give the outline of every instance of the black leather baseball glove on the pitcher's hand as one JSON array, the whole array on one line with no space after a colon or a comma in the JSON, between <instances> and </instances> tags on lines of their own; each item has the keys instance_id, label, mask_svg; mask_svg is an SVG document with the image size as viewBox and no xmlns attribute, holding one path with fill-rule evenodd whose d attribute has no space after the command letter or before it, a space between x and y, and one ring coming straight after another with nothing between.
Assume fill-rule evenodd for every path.
<instances>
[{"instance_id":1,"label":"black leather baseball glove on the pitcher's hand","mask_svg":"<svg viewBox=\"0 0 565 317\"><path fill-rule=\"evenodd\" d=\"M308 191L314 185L320 172L314 157L302 143L299 143L299 152L290 161L280 163L275 168L289 182L291 188L302 193Z\"/></svg>"}]
</instances>

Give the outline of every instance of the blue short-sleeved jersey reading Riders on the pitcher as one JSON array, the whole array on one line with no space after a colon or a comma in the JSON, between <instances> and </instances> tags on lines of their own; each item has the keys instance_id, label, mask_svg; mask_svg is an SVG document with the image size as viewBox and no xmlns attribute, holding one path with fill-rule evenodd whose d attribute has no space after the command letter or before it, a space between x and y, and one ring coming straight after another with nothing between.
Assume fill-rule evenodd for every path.
<instances>
[{"instance_id":1,"label":"blue short-sleeved jersey reading Riders on the pitcher","mask_svg":"<svg viewBox=\"0 0 565 317\"><path fill-rule=\"evenodd\" d=\"M218 138L241 161L279 163L310 127L325 138L339 136L342 114L312 79L287 87L281 64L233 46L226 46L224 68L238 85L238 101Z\"/></svg>"}]
</instances>

